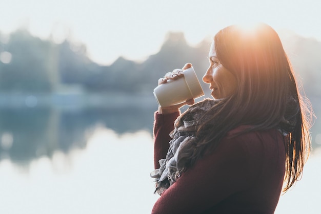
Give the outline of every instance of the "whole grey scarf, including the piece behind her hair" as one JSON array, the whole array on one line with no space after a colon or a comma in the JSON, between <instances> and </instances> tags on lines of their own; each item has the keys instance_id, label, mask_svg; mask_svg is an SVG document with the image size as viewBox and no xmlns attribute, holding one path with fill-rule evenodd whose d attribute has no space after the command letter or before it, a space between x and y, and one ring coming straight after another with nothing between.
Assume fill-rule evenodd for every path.
<instances>
[{"instance_id":1,"label":"whole grey scarf, including the piece behind her hair","mask_svg":"<svg viewBox=\"0 0 321 214\"><path fill-rule=\"evenodd\" d=\"M192 160L191 154L197 149L196 130L203 123L203 116L220 100L205 99L198 102L180 115L174 122L174 130L170 133L172 140L165 159L159 160L159 169L153 170L150 176L155 178L155 193L162 195L180 177ZM293 97L287 101L286 114L281 119L278 130L284 135L293 132L299 103Z\"/></svg>"}]
</instances>

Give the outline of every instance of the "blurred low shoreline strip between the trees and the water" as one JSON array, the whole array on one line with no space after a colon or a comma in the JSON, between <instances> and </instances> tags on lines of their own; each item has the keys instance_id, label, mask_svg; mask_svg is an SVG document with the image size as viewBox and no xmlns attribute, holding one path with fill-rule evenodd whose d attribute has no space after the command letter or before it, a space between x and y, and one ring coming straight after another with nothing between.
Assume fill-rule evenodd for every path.
<instances>
[{"instance_id":1,"label":"blurred low shoreline strip between the trees and the water","mask_svg":"<svg viewBox=\"0 0 321 214\"><path fill-rule=\"evenodd\" d=\"M0 93L0 108L155 108L152 93Z\"/></svg>"}]
</instances>

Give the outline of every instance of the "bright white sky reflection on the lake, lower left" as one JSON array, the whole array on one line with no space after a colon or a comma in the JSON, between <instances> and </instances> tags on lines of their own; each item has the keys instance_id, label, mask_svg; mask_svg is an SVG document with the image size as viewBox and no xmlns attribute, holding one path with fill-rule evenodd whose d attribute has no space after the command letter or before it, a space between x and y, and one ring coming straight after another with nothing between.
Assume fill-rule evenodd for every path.
<instances>
[{"instance_id":1,"label":"bright white sky reflection on the lake, lower left","mask_svg":"<svg viewBox=\"0 0 321 214\"><path fill-rule=\"evenodd\" d=\"M152 151L147 131L119 135L97 127L86 149L34 159L27 174L2 160L1 213L150 213L157 199Z\"/></svg>"}]
</instances>

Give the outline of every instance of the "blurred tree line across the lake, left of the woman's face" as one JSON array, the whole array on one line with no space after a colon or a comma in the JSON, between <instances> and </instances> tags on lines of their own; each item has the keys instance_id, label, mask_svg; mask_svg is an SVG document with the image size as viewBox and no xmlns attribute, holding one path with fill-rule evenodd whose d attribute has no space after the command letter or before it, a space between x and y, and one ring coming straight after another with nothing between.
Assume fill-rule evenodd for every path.
<instances>
[{"instance_id":1,"label":"blurred tree line across the lake, left of the woman's face","mask_svg":"<svg viewBox=\"0 0 321 214\"><path fill-rule=\"evenodd\" d=\"M204 40L190 47L183 33L169 33L160 51L143 63L119 57L110 66L99 66L87 57L83 44L55 44L20 29L0 40L0 53L11 55L10 62L0 60L0 91L53 92L59 85L76 84L88 92L151 92L158 78L186 62L203 73L209 46Z\"/></svg>"}]
</instances>

